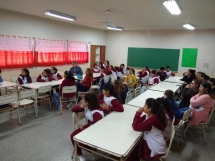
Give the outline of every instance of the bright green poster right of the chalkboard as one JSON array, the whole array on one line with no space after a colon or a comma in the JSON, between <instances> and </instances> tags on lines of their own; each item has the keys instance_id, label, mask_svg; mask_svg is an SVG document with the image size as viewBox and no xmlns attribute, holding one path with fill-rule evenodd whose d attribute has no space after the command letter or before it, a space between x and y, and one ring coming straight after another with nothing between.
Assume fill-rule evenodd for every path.
<instances>
[{"instance_id":1,"label":"bright green poster right of the chalkboard","mask_svg":"<svg viewBox=\"0 0 215 161\"><path fill-rule=\"evenodd\" d=\"M197 54L198 54L197 48L183 48L181 67L195 68L196 61L197 61Z\"/></svg>"}]
</instances>

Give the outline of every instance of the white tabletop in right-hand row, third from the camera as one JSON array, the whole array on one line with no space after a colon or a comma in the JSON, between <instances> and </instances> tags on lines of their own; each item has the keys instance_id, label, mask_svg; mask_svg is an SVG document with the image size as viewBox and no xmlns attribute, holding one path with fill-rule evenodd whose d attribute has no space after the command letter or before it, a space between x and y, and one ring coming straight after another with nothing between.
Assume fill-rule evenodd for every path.
<instances>
[{"instance_id":1,"label":"white tabletop in right-hand row, third from the camera","mask_svg":"<svg viewBox=\"0 0 215 161\"><path fill-rule=\"evenodd\" d=\"M160 82L159 84L149 88L149 90L164 92L170 89L175 93L180 88L181 85L182 84L179 84L179 83Z\"/></svg>"}]
</instances>

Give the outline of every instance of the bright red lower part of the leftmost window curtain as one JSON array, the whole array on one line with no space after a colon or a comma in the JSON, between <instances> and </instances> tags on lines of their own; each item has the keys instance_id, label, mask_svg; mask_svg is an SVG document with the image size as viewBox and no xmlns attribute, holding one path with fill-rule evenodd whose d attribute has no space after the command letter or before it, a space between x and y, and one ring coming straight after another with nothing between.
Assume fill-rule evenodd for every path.
<instances>
[{"instance_id":1,"label":"bright red lower part of the leftmost window curtain","mask_svg":"<svg viewBox=\"0 0 215 161\"><path fill-rule=\"evenodd\" d=\"M33 51L0 50L0 68L29 68L34 67Z\"/></svg>"}]
</instances>

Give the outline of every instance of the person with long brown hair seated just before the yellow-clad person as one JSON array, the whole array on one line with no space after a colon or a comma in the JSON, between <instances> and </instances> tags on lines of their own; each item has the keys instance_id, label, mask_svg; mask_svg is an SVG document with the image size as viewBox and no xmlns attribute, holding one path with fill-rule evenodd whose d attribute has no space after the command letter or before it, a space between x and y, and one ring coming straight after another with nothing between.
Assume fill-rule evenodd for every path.
<instances>
[{"instance_id":1,"label":"person with long brown hair seated just before the yellow-clad person","mask_svg":"<svg viewBox=\"0 0 215 161\"><path fill-rule=\"evenodd\" d=\"M120 79L114 82L114 95L117 96L121 104L125 104L125 99L128 93L127 85L123 84Z\"/></svg>"}]
</instances>

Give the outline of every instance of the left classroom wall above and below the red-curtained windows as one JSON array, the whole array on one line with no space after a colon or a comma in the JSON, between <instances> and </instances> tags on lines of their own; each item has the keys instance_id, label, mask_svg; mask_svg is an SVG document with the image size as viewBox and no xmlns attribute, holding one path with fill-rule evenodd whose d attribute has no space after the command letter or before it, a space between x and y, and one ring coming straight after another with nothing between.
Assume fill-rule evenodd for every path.
<instances>
[{"instance_id":1,"label":"left classroom wall above and below the red-curtained windows","mask_svg":"<svg viewBox=\"0 0 215 161\"><path fill-rule=\"evenodd\" d=\"M23 37L36 37L51 40L72 40L87 42L91 45L106 45L106 31L26 15L0 9L0 34ZM83 71L89 64L80 65ZM71 65L58 66L59 70L69 70ZM31 76L38 76L45 67L30 69ZM20 69L3 70L4 80L20 73Z\"/></svg>"}]
</instances>

